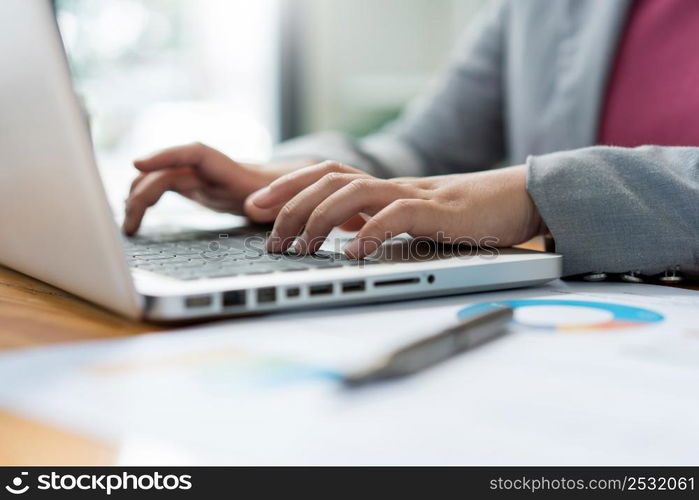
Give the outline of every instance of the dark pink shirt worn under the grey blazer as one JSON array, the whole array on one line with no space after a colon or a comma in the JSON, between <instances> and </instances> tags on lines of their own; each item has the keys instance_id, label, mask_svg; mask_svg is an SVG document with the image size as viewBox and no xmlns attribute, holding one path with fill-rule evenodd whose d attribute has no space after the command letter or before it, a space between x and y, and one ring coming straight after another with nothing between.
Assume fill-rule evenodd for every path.
<instances>
[{"instance_id":1,"label":"dark pink shirt worn under the grey blazer","mask_svg":"<svg viewBox=\"0 0 699 500\"><path fill-rule=\"evenodd\" d=\"M699 0L636 0L610 75L598 141L699 146Z\"/></svg>"}]
</instances>

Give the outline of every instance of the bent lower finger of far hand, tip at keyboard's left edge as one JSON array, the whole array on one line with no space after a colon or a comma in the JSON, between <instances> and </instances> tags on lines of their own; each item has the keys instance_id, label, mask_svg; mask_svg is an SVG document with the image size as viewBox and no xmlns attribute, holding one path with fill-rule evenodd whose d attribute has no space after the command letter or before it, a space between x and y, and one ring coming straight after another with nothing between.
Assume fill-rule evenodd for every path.
<instances>
[{"instance_id":1,"label":"bent lower finger of far hand, tip at keyboard's left edge","mask_svg":"<svg viewBox=\"0 0 699 500\"><path fill-rule=\"evenodd\" d=\"M204 182L190 168L164 170L147 175L126 200L124 232L134 234L141 225L146 209L154 205L166 191L189 192L203 187Z\"/></svg>"}]
</instances>

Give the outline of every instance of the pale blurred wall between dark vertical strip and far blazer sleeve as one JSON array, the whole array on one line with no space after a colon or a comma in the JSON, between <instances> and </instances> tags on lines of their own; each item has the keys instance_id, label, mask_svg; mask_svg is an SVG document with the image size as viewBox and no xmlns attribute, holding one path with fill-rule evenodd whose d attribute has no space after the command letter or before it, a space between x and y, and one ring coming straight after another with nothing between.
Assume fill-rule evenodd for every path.
<instances>
[{"instance_id":1,"label":"pale blurred wall between dark vertical strip and far blazer sleeve","mask_svg":"<svg viewBox=\"0 0 699 500\"><path fill-rule=\"evenodd\" d=\"M297 1L302 129L361 134L426 87L487 0Z\"/></svg>"}]
</instances>

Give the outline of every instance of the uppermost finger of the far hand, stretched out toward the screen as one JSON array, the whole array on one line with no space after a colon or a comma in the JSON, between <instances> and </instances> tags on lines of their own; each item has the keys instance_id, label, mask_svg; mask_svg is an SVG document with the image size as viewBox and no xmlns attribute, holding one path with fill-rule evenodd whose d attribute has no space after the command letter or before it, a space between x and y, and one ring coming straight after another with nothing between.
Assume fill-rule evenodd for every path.
<instances>
[{"instance_id":1,"label":"uppermost finger of the far hand, stretched out toward the screen","mask_svg":"<svg viewBox=\"0 0 699 500\"><path fill-rule=\"evenodd\" d=\"M142 172L194 167L204 179L217 183L230 180L231 165L237 163L220 151L198 142L164 149L146 158L134 160L134 166Z\"/></svg>"}]
</instances>

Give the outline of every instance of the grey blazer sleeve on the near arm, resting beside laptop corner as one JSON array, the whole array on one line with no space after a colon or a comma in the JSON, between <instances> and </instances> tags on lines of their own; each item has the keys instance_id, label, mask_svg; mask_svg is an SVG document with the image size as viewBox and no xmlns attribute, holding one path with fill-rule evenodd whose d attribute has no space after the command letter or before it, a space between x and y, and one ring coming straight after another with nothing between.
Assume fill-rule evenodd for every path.
<instances>
[{"instance_id":1,"label":"grey blazer sleeve on the near arm, resting beside laptop corner","mask_svg":"<svg viewBox=\"0 0 699 500\"><path fill-rule=\"evenodd\" d=\"M527 163L566 275L699 275L699 148L596 146Z\"/></svg>"}]
</instances>

